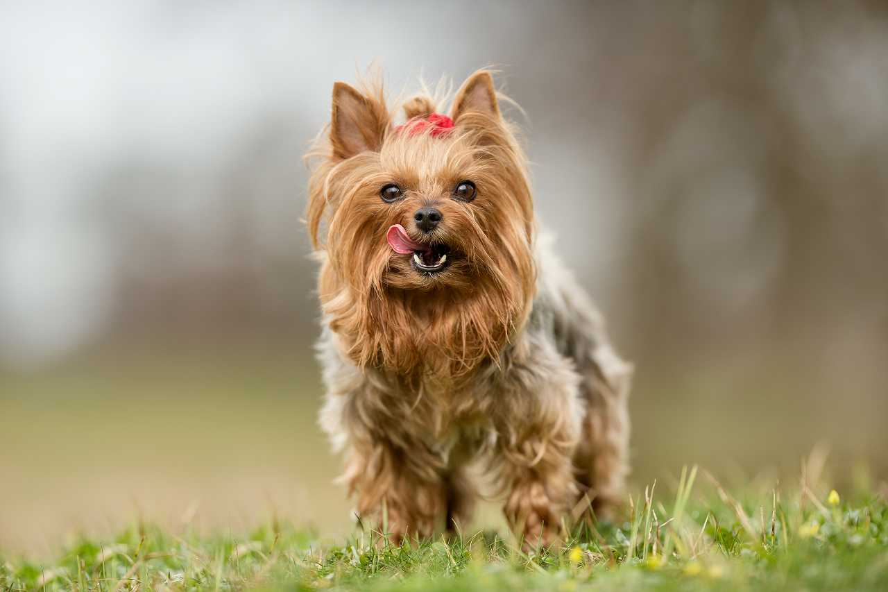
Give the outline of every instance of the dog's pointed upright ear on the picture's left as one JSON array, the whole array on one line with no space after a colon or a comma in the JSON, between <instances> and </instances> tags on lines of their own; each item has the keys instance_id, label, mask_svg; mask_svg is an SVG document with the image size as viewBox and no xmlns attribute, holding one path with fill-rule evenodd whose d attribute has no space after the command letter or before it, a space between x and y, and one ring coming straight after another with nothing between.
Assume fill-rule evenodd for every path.
<instances>
[{"instance_id":1,"label":"dog's pointed upright ear on the picture's left","mask_svg":"<svg viewBox=\"0 0 888 592\"><path fill-rule=\"evenodd\" d=\"M388 113L379 100L369 99L348 84L333 84L330 144L335 156L349 158L379 150L388 124Z\"/></svg>"}]
</instances>

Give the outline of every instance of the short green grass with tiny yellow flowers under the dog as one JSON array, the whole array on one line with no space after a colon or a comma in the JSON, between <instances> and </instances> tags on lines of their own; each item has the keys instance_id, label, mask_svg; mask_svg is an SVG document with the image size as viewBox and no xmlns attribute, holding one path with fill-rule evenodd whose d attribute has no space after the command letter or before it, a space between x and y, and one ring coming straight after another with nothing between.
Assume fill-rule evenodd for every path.
<instances>
[{"instance_id":1,"label":"short green grass with tiny yellow flowers under the dog","mask_svg":"<svg viewBox=\"0 0 888 592\"><path fill-rule=\"evenodd\" d=\"M732 489L691 468L636 492L624 521L583 513L562 548L528 552L494 532L394 546L369 529L322 541L277 522L243 537L136 524L55 561L0 555L0 590L888 589L884 494L805 477Z\"/></svg>"}]
</instances>

